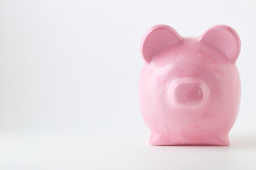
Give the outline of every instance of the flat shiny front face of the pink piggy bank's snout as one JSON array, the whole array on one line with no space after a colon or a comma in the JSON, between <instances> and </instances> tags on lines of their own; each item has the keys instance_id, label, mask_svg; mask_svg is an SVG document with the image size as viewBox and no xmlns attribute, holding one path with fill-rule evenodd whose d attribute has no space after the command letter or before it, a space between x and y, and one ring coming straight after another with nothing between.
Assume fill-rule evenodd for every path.
<instances>
[{"instance_id":1,"label":"flat shiny front face of the pink piggy bank's snout","mask_svg":"<svg viewBox=\"0 0 256 170\"><path fill-rule=\"evenodd\" d=\"M174 96L181 104L197 104L204 97L201 86L195 83L178 84L175 87Z\"/></svg>"}]
</instances>

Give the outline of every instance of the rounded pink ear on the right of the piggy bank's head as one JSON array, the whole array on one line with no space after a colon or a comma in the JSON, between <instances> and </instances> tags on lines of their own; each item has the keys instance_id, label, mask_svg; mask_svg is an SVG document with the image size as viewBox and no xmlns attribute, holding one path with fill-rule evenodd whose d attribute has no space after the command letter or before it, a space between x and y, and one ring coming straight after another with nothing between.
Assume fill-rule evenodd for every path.
<instances>
[{"instance_id":1,"label":"rounded pink ear on the right of the piggy bank's head","mask_svg":"<svg viewBox=\"0 0 256 170\"><path fill-rule=\"evenodd\" d=\"M212 26L199 37L199 40L216 46L226 55L230 62L236 63L241 49L241 42L237 32L230 26Z\"/></svg>"}]
</instances>

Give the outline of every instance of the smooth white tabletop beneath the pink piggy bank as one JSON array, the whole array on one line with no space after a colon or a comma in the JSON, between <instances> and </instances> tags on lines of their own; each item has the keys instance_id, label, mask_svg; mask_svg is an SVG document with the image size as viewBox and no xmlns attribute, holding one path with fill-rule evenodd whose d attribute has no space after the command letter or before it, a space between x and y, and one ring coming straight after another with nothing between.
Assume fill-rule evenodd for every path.
<instances>
[{"instance_id":1,"label":"smooth white tabletop beneath the pink piggy bank","mask_svg":"<svg viewBox=\"0 0 256 170\"><path fill-rule=\"evenodd\" d=\"M0 170L256 170L256 131L231 146L150 146L149 132L0 131Z\"/></svg>"}]
</instances>

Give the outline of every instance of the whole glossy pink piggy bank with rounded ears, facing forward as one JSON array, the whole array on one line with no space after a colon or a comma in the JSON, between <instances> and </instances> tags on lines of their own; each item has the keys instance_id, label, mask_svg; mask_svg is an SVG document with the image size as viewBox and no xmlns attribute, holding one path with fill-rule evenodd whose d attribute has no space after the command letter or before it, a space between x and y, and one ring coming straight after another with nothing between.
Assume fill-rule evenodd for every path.
<instances>
[{"instance_id":1,"label":"whole glossy pink piggy bank with rounded ears, facing forward","mask_svg":"<svg viewBox=\"0 0 256 170\"><path fill-rule=\"evenodd\" d=\"M229 145L241 84L240 38L226 25L185 38L156 25L141 40L141 113L151 145Z\"/></svg>"}]
</instances>

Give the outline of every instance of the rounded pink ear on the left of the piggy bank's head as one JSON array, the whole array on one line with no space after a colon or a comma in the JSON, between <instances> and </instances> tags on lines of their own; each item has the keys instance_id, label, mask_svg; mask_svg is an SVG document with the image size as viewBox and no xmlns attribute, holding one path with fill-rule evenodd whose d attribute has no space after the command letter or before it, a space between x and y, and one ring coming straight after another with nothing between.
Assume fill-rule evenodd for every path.
<instances>
[{"instance_id":1,"label":"rounded pink ear on the left of the piggy bank's head","mask_svg":"<svg viewBox=\"0 0 256 170\"><path fill-rule=\"evenodd\" d=\"M141 39L141 55L147 63L150 63L157 51L163 47L182 41L175 29L168 25L152 26Z\"/></svg>"}]
</instances>

